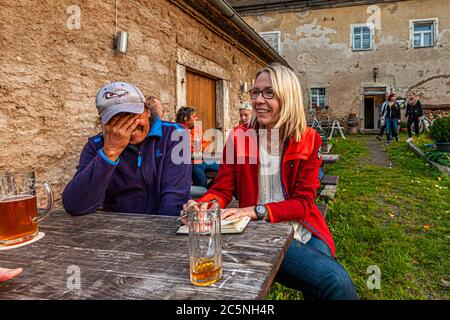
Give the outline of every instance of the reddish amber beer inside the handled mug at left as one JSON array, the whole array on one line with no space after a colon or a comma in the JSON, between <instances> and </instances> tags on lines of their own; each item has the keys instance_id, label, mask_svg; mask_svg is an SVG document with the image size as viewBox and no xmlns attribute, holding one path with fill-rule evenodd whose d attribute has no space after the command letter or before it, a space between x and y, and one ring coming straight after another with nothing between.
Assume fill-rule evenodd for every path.
<instances>
[{"instance_id":1,"label":"reddish amber beer inside the handled mug at left","mask_svg":"<svg viewBox=\"0 0 450 320\"><path fill-rule=\"evenodd\" d=\"M0 200L0 245L18 244L38 233L36 196Z\"/></svg>"}]
</instances>

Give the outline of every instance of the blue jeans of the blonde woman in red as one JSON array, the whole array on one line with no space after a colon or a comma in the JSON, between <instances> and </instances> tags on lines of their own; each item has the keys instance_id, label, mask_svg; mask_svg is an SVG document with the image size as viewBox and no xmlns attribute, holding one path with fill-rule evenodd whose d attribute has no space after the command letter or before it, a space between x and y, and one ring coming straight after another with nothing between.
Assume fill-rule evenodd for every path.
<instances>
[{"instance_id":1,"label":"blue jeans of the blonde woman in red","mask_svg":"<svg viewBox=\"0 0 450 320\"><path fill-rule=\"evenodd\" d=\"M306 244L292 240L275 281L302 291L305 300L358 299L347 271L314 235Z\"/></svg>"}]
</instances>

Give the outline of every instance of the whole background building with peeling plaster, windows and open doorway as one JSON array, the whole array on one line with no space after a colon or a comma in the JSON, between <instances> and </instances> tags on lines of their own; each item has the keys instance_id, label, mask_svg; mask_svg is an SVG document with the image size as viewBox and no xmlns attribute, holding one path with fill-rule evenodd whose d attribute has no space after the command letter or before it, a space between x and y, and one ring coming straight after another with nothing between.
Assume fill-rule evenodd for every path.
<instances>
[{"instance_id":1,"label":"whole background building with peeling plaster, windows and open doorway","mask_svg":"<svg viewBox=\"0 0 450 320\"><path fill-rule=\"evenodd\" d=\"M294 68L311 113L373 129L385 92L411 91L450 108L448 0L229 3Z\"/></svg>"}]
</instances>

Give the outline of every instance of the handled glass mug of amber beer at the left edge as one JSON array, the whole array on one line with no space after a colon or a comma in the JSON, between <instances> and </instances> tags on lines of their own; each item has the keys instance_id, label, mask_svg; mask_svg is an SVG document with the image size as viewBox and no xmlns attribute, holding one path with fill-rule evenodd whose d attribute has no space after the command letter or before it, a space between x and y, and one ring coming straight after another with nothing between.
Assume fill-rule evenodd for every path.
<instances>
[{"instance_id":1,"label":"handled glass mug of amber beer at the left edge","mask_svg":"<svg viewBox=\"0 0 450 320\"><path fill-rule=\"evenodd\" d=\"M39 209L39 215L35 173L0 172L0 246L15 245L38 235L38 224L53 209L53 191L48 183L43 186L47 207Z\"/></svg>"}]
</instances>

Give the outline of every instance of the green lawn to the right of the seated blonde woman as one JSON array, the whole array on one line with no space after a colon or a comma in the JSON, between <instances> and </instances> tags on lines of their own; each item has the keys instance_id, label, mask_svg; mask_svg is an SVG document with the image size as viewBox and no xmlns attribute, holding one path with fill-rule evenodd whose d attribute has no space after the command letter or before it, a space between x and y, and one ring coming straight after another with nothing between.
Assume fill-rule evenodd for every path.
<instances>
[{"instance_id":1,"label":"green lawn to the right of the seated blonde woman","mask_svg":"<svg viewBox=\"0 0 450 320\"><path fill-rule=\"evenodd\" d=\"M326 172L339 176L327 222L336 257L361 299L449 299L450 179L417 158L406 143L386 148L392 168L369 164L367 139L333 140L340 160ZM406 137L401 137L405 141ZM422 138L422 143L427 143ZM381 270L381 289L367 287L367 268ZM301 299L275 283L268 299Z\"/></svg>"}]
</instances>

